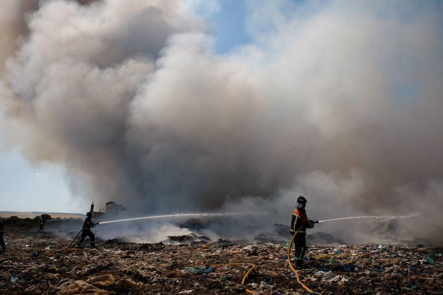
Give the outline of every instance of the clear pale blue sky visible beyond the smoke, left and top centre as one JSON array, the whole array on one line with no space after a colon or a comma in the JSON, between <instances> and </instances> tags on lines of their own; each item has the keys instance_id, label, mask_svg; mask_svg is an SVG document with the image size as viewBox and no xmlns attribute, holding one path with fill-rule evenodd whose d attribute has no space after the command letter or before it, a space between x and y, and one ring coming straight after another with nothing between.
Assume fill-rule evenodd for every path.
<instances>
[{"instance_id":1,"label":"clear pale blue sky visible beyond the smoke, left and top centre","mask_svg":"<svg viewBox=\"0 0 443 295\"><path fill-rule=\"evenodd\" d=\"M210 14L209 22L216 39L214 51L224 54L250 42L250 37L245 30L246 1L219 3L220 9ZM0 134L0 211L87 211L89 201L73 196L63 175L61 166L32 166L19 150L6 148Z\"/></svg>"}]
</instances>

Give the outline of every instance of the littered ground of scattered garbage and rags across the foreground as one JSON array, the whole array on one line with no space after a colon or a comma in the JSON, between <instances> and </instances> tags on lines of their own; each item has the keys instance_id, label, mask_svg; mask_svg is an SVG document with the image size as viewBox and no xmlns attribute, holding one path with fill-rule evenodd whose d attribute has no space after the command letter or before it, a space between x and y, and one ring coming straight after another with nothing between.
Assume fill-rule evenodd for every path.
<instances>
[{"instance_id":1,"label":"littered ground of scattered garbage and rags across the foreground","mask_svg":"<svg viewBox=\"0 0 443 295\"><path fill-rule=\"evenodd\" d=\"M36 232L36 231L35 231ZM288 244L165 245L69 240L8 228L1 294L307 294L287 265ZM308 236L309 238L309 236ZM300 280L320 294L443 294L443 248L311 246ZM248 275L245 273L257 268Z\"/></svg>"}]
</instances>

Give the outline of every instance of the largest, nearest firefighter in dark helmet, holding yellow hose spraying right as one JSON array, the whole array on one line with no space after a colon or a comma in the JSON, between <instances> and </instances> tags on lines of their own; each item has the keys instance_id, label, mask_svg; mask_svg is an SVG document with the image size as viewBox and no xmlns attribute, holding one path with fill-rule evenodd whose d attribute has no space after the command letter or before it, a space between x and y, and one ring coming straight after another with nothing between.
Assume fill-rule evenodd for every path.
<instances>
[{"instance_id":1,"label":"largest, nearest firefighter in dark helmet, holding yellow hose spraying right","mask_svg":"<svg viewBox=\"0 0 443 295\"><path fill-rule=\"evenodd\" d=\"M299 268L303 265L303 257L306 252L306 229L314 228L314 221L308 219L308 216L306 215L306 203L308 203L308 201L306 201L305 197L298 197L295 209L292 211L291 235L294 235L300 228L297 236L294 238L295 266Z\"/></svg>"}]
</instances>

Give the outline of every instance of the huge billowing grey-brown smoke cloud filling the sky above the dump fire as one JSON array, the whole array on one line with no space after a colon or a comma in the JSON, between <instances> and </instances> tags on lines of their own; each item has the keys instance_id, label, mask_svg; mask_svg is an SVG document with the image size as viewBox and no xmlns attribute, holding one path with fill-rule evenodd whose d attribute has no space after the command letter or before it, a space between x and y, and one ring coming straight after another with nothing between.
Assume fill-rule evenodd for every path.
<instances>
[{"instance_id":1,"label":"huge billowing grey-brown smoke cloud filling the sky above the dump fire","mask_svg":"<svg viewBox=\"0 0 443 295\"><path fill-rule=\"evenodd\" d=\"M186 2L25 2L0 7L3 134L76 194L442 223L441 3L252 1L220 56Z\"/></svg>"}]
</instances>

